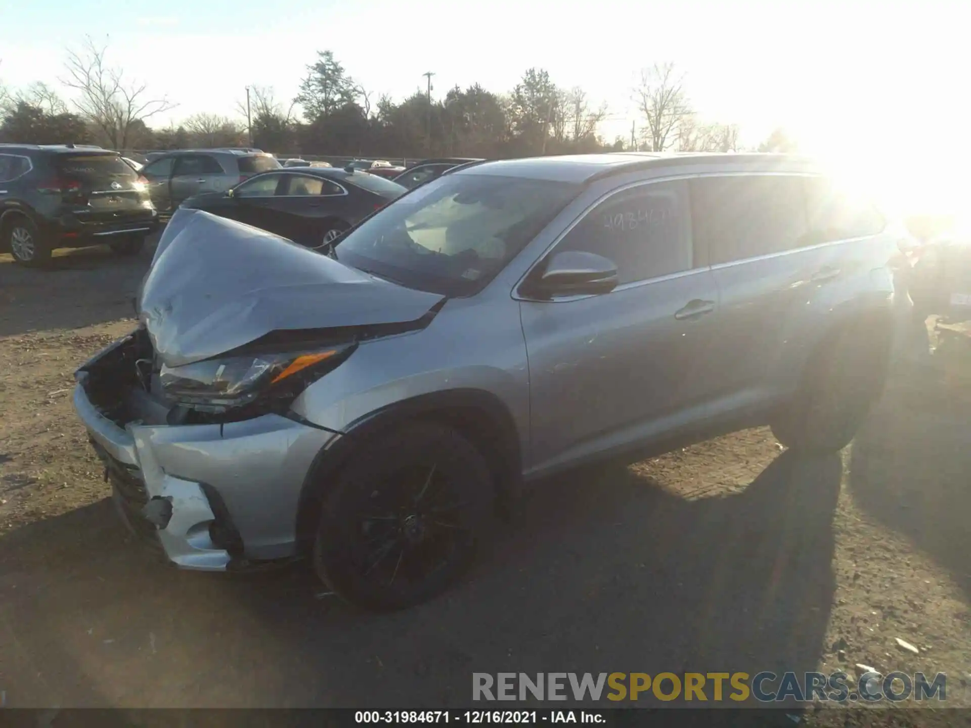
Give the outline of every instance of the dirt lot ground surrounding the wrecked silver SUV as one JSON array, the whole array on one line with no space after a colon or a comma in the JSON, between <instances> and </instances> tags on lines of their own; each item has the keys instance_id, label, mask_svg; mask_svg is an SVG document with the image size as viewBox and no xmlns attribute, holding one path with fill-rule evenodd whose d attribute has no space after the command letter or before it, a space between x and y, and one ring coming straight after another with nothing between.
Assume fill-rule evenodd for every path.
<instances>
[{"instance_id":1,"label":"dirt lot ground surrounding the wrecked silver SUV","mask_svg":"<svg viewBox=\"0 0 971 728\"><path fill-rule=\"evenodd\" d=\"M750 430L559 478L497 524L451 592L365 614L303 568L183 573L128 540L71 374L133 327L149 260L92 248L38 272L0 256L8 705L448 707L470 704L473 672L862 664L946 672L948 705L971 706L971 385L959 368L901 358L842 458L799 460Z\"/></svg>"}]
</instances>

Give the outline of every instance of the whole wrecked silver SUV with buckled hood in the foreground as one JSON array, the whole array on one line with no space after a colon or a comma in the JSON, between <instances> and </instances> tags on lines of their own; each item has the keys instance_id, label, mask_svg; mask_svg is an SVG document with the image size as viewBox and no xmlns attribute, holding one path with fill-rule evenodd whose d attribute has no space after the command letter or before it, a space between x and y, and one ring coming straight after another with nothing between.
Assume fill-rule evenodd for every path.
<instances>
[{"instance_id":1,"label":"whole wrecked silver SUV with buckled hood in the foreground","mask_svg":"<svg viewBox=\"0 0 971 728\"><path fill-rule=\"evenodd\" d=\"M75 407L179 566L308 555L400 608L542 476L760 424L844 447L883 386L899 236L760 154L467 166L326 254L180 210Z\"/></svg>"}]
</instances>

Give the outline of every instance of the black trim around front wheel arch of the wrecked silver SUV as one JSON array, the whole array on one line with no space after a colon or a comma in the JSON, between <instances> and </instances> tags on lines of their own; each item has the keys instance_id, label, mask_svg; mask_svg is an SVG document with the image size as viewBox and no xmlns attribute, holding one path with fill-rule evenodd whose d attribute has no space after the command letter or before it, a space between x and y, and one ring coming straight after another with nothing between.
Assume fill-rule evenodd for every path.
<instances>
[{"instance_id":1,"label":"black trim around front wheel arch of the wrecked silver SUV","mask_svg":"<svg viewBox=\"0 0 971 728\"><path fill-rule=\"evenodd\" d=\"M421 394L395 402L352 423L340 437L320 448L300 490L296 513L298 549L313 544L319 519L320 497L340 471L368 443L416 419L431 419L453 426L483 450L493 473L500 504L519 498L522 452L519 429L509 409L494 394L463 388Z\"/></svg>"}]
</instances>

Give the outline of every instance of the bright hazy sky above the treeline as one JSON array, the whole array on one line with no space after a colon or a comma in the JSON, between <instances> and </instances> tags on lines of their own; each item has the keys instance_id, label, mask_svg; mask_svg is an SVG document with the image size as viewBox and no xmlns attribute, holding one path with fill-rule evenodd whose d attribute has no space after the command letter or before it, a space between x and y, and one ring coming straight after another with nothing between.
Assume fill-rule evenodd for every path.
<instances>
[{"instance_id":1,"label":"bright hazy sky above the treeline","mask_svg":"<svg viewBox=\"0 0 971 728\"><path fill-rule=\"evenodd\" d=\"M740 124L744 143L785 127L903 202L950 209L968 191L954 170L971 161L968 12L960 0L0 0L0 81L55 82L66 48L107 36L111 63L178 103L151 119L164 126L234 115L247 84L290 99L317 50L373 99L423 89L425 71L433 96L504 92L537 66L607 103L613 140L640 124L639 70L671 61L698 115Z\"/></svg>"}]
</instances>

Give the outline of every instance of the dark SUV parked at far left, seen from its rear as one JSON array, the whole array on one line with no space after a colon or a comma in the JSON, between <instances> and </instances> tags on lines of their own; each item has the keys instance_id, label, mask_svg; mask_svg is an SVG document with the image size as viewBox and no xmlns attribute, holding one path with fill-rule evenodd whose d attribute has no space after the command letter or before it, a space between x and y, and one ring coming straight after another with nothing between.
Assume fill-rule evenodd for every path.
<instances>
[{"instance_id":1,"label":"dark SUV parked at far left, seen from its rear","mask_svg":"<svg viewBox=\"0 0 971 728\"><path fill-rule=\"evenodd\" d=\"M157 224L145 181L116 151L0 144L0 252L18 263L101 243L131 255Z\"/></svg>"}]
</instances>

